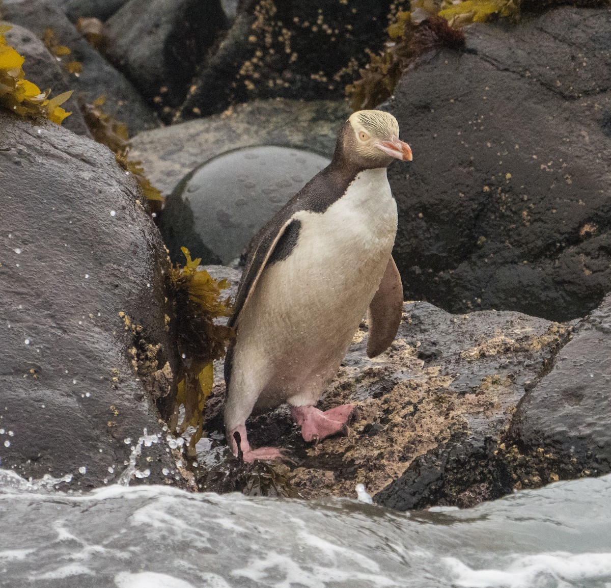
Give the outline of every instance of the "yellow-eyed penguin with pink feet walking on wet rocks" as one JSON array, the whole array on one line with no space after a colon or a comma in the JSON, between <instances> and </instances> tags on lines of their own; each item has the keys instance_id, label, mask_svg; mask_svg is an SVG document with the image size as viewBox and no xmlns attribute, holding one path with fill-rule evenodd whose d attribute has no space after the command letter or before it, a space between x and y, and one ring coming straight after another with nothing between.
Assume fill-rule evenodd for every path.
<instances>
[{"instance_id":1,"label":"yellow-eyed penguin with pink feet walking on wet rocks","mask_svg":"<svg viewBox=\"0 0 611 588\"><path fill-rule=\"evenodd\" d=\"M245 424L283 403L305 441L348 434L354 405L315 405L367 309L370 358L397 335L403 286L391 255L397 203L386 177L395 159L412 160L395 117L354 112L331 163L249 245L228 323L236 337L225 358L224 407L227 442L245 462L283 457L276 447L251 449Z\"/></svg>"}]
</instances>

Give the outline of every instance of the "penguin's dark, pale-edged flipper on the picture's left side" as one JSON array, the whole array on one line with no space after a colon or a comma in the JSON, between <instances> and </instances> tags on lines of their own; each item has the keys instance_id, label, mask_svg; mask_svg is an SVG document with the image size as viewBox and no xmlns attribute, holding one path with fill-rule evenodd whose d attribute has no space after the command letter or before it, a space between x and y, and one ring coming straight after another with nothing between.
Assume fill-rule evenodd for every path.
<instances>
[{"instance_id":1,"label":"penguin's dark, pale-edged flipper on the picture's left side","mask_svg":"<svg viewBox=\"0 0 611 588\"><path fill-rule=\"evenodd\" d=\"M257 282L268 262L281 260L286 257L287 253L284 250L288 249L290 251L296 243L300 226L301 222L293 218L293 215L282 222L282 224L279 224L276 217L274 217L257 234L251 246L249 259L247 260L246 268L244 268L238 294L233 304L233 314L229 318L227 326L233 327L236 325L240 312L246 306L252 292L254 292ZM283 237L284 239L282 239ZM283 242L279 243L281 239ZM276 251L276 249L279 251Z\"/></svg>"}]
</instances>

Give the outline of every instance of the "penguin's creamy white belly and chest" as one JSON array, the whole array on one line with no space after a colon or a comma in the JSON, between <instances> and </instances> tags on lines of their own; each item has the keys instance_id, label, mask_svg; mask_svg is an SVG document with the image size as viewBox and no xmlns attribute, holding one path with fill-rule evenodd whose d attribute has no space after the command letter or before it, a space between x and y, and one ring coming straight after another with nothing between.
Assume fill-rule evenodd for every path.
<instances>
[{"instance_id":1,"label":"penguin's creamy white belly and chest","mask_svg":"<svg viewBox=\"0 0 611 588\"><path fill-rule=\"evenodd\" d=\"M240 315L232 370L260 389L255 411L316 403L337 373L397 232L382 171L359 174L324 213L296 213L295 248L263 271Z\"/></svg>"}]
</instances>

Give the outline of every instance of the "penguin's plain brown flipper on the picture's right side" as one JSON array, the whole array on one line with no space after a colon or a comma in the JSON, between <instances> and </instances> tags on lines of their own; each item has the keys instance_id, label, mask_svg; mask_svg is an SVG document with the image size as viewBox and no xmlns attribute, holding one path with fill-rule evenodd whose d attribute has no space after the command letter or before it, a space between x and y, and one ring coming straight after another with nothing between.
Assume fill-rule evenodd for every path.
<instances>
[{"instance_id":1,"label":"penguin's plain brown flipper on the picture's right side","mask_svg":"<svg viewBox=\"0 0 611 588\"><path fill-rule=\"evenodd\" d=\"M369 338L367 357L375 358L395 340L403 315L403 284L392 255L386 271L369 305Z\"/></svg>"}]
</instances>

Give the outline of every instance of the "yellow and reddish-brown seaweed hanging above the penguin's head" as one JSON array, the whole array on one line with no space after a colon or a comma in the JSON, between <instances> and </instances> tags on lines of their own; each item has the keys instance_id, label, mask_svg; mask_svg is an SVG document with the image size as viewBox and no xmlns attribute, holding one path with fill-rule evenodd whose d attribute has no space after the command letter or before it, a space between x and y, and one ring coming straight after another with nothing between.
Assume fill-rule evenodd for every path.
<instances>
[{"instance_id":1,"label":"yellow and reddish-brown seaweed hanging above the penguin's head","mask_svg":"<svg viewBox=\"0 0 611 588\"><path fill-rule=\"evenodd\" d=\"M521 0L412 0L411 11L400 11L387 29L384 49L370 53L360 79L346 86L354 110L375 108L392 95L404 70L441 47L461 51L461 27L496 18L518 18Z\"/></svg>"}]
</instances>

